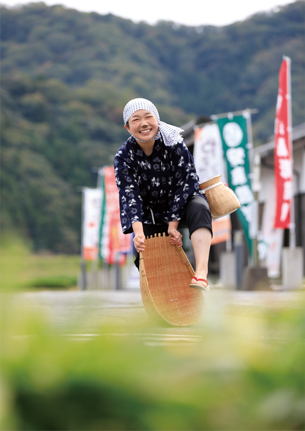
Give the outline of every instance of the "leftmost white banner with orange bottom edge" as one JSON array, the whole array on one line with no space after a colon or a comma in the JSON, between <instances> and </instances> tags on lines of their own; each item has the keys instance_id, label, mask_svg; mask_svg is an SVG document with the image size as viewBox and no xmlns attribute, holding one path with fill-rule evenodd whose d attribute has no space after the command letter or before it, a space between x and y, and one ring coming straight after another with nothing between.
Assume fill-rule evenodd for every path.
<instances>
[{"instance_id":1,"label":"leftmost white banner with orange bottom edge","mask_svg":"<svg viewBox=\"0 0 305 431\"><path fill-rule=\"evenodd\" d=\"M96 260L99 253L102 189L83 188L82 257Z\"/></svg>"}]
</instances>

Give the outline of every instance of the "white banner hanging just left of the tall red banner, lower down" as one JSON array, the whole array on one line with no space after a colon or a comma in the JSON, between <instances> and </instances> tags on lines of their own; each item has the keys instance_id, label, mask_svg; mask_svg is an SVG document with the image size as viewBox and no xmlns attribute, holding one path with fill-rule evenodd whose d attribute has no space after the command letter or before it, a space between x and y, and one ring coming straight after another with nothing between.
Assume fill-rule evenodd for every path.
<instances>
[{"instance_id":1,"label":"white banner hanging just left of the tall red banner, lower down","mask_svg":"<svg viewBox=\"0 0 305 431\"><path fill-rule=\"evenodd\" d=\"M284 229L273 228L276 213L275 184L272 181L267 185L270 198L264 204L262 219L262 241L258 242L258 259L265 259L268 277L277 278L281 273L281 251L283 245Z\"/></svg>"}]
</instances>

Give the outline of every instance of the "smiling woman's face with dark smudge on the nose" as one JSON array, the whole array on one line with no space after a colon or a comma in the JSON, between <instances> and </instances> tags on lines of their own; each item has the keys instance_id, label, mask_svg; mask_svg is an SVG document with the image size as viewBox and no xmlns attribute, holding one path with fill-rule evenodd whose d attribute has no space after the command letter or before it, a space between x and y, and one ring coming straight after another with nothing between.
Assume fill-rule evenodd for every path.
<instances>
[{"instance_id":1,"label":"smiling woman's face with dark smudge on the nose","mask_svg":"<svg viewBox=\"0 0 305 431\"><path fill-rule=\"evenodd\" d=\"M139 109L128 120L125 128L141 141L150 141L159 130L157 118L151 112Z\"/></svg>"}]
</instances>

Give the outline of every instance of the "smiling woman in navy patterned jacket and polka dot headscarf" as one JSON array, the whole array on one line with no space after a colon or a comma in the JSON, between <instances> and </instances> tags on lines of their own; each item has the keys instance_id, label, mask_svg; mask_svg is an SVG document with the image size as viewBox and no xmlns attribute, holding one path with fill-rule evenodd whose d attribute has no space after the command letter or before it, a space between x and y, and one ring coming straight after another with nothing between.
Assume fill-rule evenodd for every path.
<instances>
[{"instance_id":1,"label":"smiling woman in navy patterned jacket and polka dot headscarf","mask_svg":"<svg viewBox=\"0 0 305 431\"><path fill-rule=\"evenodd\" d=\"M211 214L194 159L180 136L183 131L160 121L157 108L146 99L128 102L124 123L131 137L115 156L114 172L123 232L135 234L136 266L147 235L166 232L172 235L170 243L181 247L178 226L188 227L196 260L190 287L209 290Z\"/></svg>"}]
</instances>

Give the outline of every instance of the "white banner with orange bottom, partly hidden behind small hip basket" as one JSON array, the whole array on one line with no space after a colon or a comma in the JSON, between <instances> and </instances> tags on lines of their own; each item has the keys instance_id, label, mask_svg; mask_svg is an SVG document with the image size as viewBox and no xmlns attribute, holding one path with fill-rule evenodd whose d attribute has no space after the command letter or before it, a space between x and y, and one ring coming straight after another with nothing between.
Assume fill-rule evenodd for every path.
<instances>
[{"instance_id":1,"label":"white banner with orange bottom, partly hidden behind small hip basket","mask_svg":"<svg viewBox=\"0 0 305 431\"><path fill-rule=\"evenodd\" d=\"M217 123L208 123L194 131L194 163L199 182L221 175L222 181L227 182L224 150ZM211 244L228 241L231 238L230 215L212 220L213 237Z\"/></svg>"}]
</instances>

